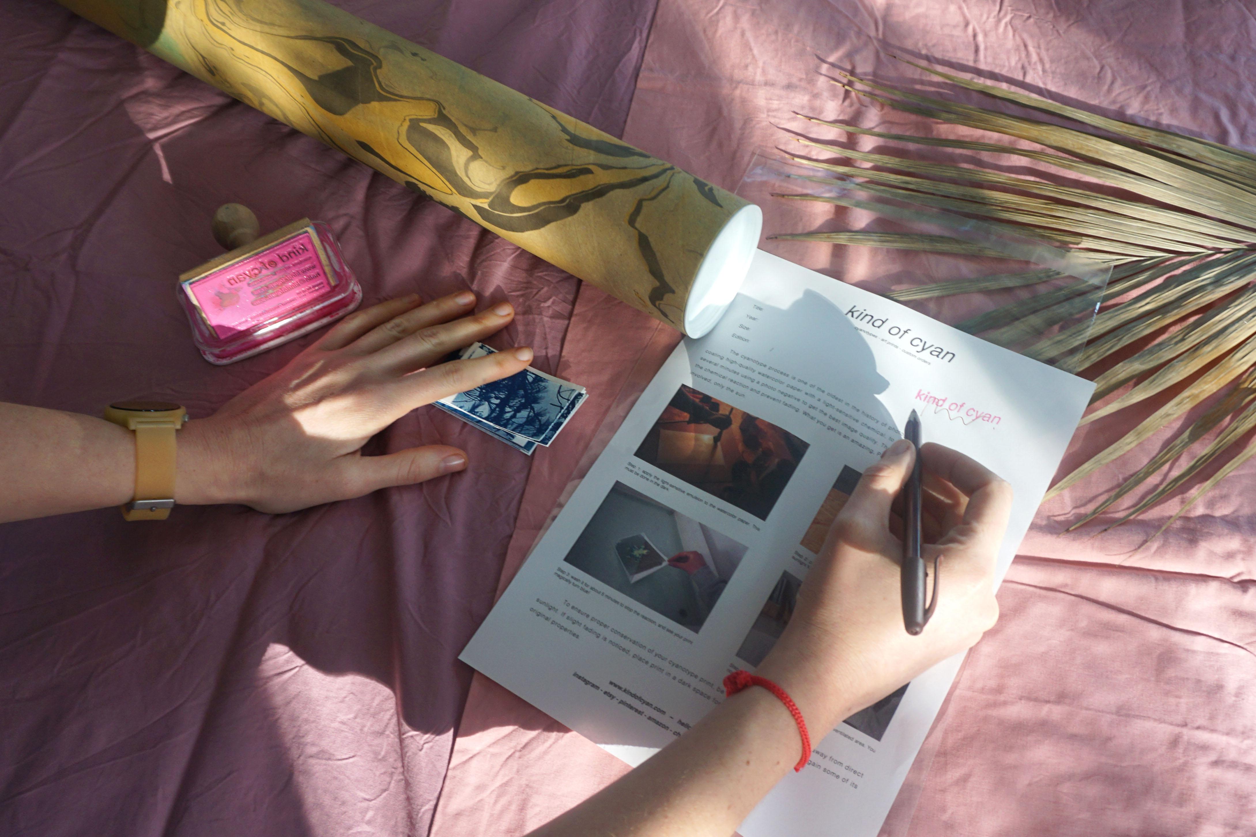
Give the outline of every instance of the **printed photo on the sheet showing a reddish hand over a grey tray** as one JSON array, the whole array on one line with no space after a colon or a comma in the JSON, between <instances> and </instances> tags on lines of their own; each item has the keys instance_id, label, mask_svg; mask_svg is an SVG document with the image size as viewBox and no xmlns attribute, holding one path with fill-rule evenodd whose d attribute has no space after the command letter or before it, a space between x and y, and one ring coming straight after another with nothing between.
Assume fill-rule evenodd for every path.
<instances>
[{"instance_id":1,"label":"printed photo on the sheet showing a reddish hand over a grey tray","mask_svg":"<svg viewBox=\"0 0 1256 837\"><path fill-rule=\"evenodd\" d=\"M697 632L745 555L742 543L617 482L563 560Z\"/></svg>"}]
</instances>

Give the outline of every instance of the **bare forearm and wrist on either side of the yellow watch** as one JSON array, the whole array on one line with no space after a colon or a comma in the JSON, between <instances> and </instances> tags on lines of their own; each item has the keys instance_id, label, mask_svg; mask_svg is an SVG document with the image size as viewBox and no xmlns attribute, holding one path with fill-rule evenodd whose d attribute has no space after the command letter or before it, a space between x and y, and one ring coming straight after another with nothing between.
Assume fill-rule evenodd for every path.
<instances>
[{"instance_id":1,"label":"bare forearm and wrist on either side of the yellow watch","mask_svg":"<svg viewBox=\"0 0 1256 837\"><path fill-rule=\"evenodd\" d=\"M207 428L178 433L175 499L212 502L200 452ZM0 403L0 522L121 506L134 497L134 433L102 418Z\"/></svg>"}]
</instances>

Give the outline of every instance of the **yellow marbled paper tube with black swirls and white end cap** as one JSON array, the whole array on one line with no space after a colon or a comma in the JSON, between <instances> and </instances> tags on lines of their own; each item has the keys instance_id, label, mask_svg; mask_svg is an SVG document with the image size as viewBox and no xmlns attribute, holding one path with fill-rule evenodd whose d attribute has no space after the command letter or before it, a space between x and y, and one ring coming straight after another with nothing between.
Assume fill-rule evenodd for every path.
<instances>
[{"instance_id":1,"label":"yellow marbled paper tube with black swirls and white end cap","mask_svg":"<svg viewBox=\"0 0 1256 837\"><path fill-rule=\"evenodd\" d=\"M759 207L322 0L62 3L691 336L757 245Z\"/></svg>"}]
</instances>

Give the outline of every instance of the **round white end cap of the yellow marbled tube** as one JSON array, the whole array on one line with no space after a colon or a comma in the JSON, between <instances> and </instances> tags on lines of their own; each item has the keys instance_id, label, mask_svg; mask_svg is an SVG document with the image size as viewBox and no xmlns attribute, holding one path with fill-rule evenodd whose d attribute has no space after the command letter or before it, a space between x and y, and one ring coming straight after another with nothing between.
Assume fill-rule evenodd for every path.
<instances>
[{"instance_id":1,"label":"round white end cap of the yellow marbled tube","mask_svg":"<svg viewBox=\"0 0 1256 837\"><path fill-rule=\"evenodd\" d=\"M734 213L720 230L693 277L685 306L685 334L701 338L728 310L750 271L762 228L764 212L751 203Z\"/></svg>"}]
</instances>

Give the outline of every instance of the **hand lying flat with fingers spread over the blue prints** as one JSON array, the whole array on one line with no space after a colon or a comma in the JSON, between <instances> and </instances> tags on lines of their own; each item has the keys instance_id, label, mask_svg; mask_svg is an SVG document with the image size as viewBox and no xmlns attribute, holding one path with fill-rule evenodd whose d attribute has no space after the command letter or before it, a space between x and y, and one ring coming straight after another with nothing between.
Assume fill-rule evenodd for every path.
<instances>
[{"instance_id":1,"label":"hand lying flat with fingers spread over the blue prints","mask_svg":"<svg viewBox=\"0 0 1256 837\"><path fill-rule=\"evenodd\" d=\"M522 370L528 348L442 363L500 331L501 302L472 314L462 291L350 314L286 366L180 432L176 499L290 512L462 471L466 454L431 444L364 457L362 445L406 413Z\"/></svg>"}]
</instances>

